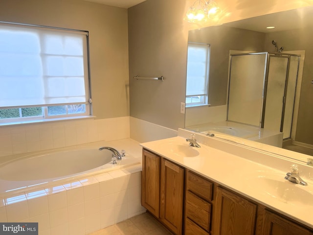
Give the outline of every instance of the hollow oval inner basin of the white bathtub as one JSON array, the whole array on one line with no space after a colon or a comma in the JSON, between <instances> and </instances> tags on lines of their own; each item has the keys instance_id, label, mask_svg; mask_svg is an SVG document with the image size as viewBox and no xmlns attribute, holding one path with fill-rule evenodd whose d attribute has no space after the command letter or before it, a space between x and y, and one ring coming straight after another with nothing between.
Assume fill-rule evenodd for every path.
<instances>
[{"instance_id":1,"label":"hollow oval inner basin of the white bathtub","mask_svg":"<svg viewBox=\"0 0 313 235\"><path fill-rule=\"evenodd\" d=\"M111 162L112 152L98 149L75 149L71 151L26 156L0 165L0 180L33 181L81 174L103 167ZM102 167L101 167L102 166Z\"/></svg>"}]
</instances>

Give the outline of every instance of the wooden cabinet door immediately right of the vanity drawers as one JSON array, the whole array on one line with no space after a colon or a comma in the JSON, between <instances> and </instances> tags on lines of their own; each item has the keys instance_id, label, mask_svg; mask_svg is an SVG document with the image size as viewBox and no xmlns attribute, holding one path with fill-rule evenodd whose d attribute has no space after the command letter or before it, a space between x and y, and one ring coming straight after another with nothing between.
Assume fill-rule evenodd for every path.
<instances>
[{"instance_id":1,"label":"wooden cabinet door immediately right of the vanity drawers","mask_svg":"<svg viewBox=\"0 0 313 235\"><path fill-rule=\"evenodd\" d=\"M257 205L217 187L213 230L215 235L253 235Z\"/></svg>"}]
</instances>

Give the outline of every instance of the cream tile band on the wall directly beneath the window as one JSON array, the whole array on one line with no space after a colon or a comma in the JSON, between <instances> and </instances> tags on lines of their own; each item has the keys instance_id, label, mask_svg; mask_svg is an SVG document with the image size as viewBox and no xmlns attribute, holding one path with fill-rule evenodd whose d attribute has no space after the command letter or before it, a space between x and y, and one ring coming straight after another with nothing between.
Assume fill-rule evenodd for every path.
<instances>
[{"instance_id":1,"label":"cream tile band on the wall directly beneath the window","mask_svg":"<svg viewBox=\"0 0 313 235\"><path fill-rule=\"evenodd\" d=\"M0 125L0 157L130 138L130 117Z\"/></svg>"}]
</instances>

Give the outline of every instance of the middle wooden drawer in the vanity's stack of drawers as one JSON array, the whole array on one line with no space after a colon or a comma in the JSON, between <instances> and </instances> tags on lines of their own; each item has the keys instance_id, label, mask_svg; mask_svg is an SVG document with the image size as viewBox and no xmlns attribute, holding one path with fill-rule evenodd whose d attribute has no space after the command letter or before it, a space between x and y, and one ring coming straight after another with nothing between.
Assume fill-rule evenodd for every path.
<instances>
[{"instance_id":1,"label":"middle wooden drawer in the vanity's stack of drawers","mask_svg":"<svg viewBox=\"0 0 313 235\"><path fill-rule=\"evenodd\" d=\"M190 191L186 193L185 217L197 223L201 228L210 231L211 204Z\"/></svg>"}]
</instances>

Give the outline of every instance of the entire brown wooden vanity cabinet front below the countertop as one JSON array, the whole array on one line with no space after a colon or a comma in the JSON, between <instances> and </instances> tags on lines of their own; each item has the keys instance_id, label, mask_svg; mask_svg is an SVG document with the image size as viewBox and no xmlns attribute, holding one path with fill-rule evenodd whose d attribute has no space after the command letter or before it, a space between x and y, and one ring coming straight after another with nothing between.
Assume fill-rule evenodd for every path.
<instances>
[{"instance_id":1,"label":"entire brown wooden vanity cabinet front below the countertop","mask_svg":"<svg viewBox=\"0 0 313 235\"><path fill-rule=\"evenodd\" d=\"M141 182L142 206L175 235L313 235L313 229L145 149Z\"/></svg>"}]
</instances>

